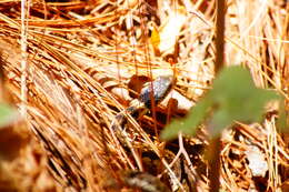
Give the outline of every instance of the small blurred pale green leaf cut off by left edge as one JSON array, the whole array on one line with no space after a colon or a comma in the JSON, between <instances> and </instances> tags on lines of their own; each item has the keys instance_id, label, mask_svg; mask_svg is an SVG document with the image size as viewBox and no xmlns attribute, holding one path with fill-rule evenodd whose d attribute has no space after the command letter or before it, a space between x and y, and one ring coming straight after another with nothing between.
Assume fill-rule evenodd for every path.
<instances>
[{"instance_id":1,"label":"small blurred pale green leaf cut off by left edge","mask_svg":"<svg viewBox=\"0 0 289 192\"><path fill-rule=\"evenodd\" d=\"M16 120L17 111L4 103L0 103L0 127L4 127Z\"/></svg>"}]
</instances>

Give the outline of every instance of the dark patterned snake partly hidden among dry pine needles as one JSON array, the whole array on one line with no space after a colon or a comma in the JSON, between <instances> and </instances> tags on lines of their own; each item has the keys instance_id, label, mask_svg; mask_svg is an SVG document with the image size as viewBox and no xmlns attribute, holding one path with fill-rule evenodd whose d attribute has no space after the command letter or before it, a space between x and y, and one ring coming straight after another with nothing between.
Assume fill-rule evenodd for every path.
<instances>
[{"instance_id":1,"label":"dark patterned snake partly hidden among dry pine needles","mask_svg":"<svg viewBox=\"0 0 289 192\"><path fill-rule=\"evenodd\" d=\"M128 114L133 114L139 110L143 110L142 114L157 107L168 95L172 89L175 78L172 75L160 75L155 81L148 82L140 91L138 99L119 112L114 117L112 130L117 133L118 140L123 146L129 146L130 142L126 140L127 132L123 131L123 122ZM131 172L124 176L123 182L132 188L140 189L146 192L168 192L170 191L158 178L142 172Z\"/></svg>"}]
</instances>

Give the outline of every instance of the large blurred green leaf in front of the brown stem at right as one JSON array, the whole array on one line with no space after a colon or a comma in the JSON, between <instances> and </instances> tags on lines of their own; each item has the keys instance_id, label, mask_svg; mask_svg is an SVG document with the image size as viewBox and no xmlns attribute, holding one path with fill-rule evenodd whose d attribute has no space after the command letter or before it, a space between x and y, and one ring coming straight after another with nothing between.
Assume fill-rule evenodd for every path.
<instances>
[{"instance_id":1,"label":"large blurred green leaf in front of the brown stem at right","mask_svg":"<svg viewBox=\"0 0 289 192\"><path fill-rule=\"evenodd\" d=\"M172 139L179 132L193 135L197 125L213 110L209 121L210 134L217 137L233 121L260 121L263 107L279 97L268 90L255 87L249 71L241 67L222 70L212 84L212 90L197 103L188 118L175 120L162 132L162 139Z\"/></svg>"}]
</instances>

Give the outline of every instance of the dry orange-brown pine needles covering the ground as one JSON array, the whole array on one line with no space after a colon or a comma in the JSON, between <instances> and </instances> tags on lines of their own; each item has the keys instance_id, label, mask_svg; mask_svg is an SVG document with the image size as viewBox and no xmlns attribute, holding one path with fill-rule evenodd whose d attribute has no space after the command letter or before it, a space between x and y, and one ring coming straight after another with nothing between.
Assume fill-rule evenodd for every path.
<instances>
[{"instance_id":1,"label":"dry orange-brown pine needles covering the ground","mask_svg":"<svg viewBox=\"0 0 289 192\"><path fill-rule=\"evenodd\" d=\"M156 130L172 117L183 115L210 88L215 77L215 1L168 2L32 1L23 9L29 10L23 14L26 20L21 20L20 1L0 1L6 99L24 117L0 130L1 143L11 145L0 149L1 191L129 191L134 174L128 170L146 171L179 190L189 191L191 185L208 190L202 134L185 141L199 174L195 182L196 175L182 158L169 168L178 142L165 144L156 138ZM288 104L289 3L236 0L227 6L226 64L246 65L258 87L275 89ZM173 11L186 19L177 31L176 44L162 51L151 34L157 29L161 34ZM160 37L160 42L168 39ZM111 123L131 101L128 88L132 89L129 80L133 74L152 79L176 75L173 95L179 104L172 110L173 102L171 108L171 102L165 102L155 109L156 115L138 121L130 117L127 129L134 141L131 148L123 148ZM276 108L265 113L261 123L237 123L223 133L225 191L288 190L288 134L276 128ZM249 168L252 146L268 164L263 176L253 176ZM179 183L181 172L187 179Z\"/></svg>"}]
</instances>

